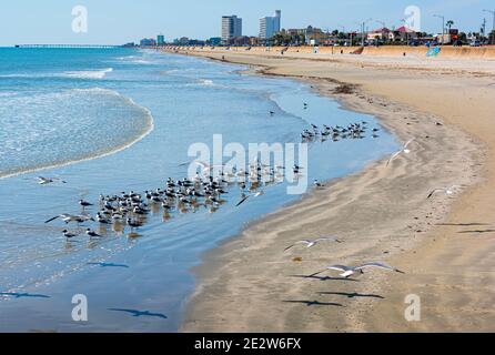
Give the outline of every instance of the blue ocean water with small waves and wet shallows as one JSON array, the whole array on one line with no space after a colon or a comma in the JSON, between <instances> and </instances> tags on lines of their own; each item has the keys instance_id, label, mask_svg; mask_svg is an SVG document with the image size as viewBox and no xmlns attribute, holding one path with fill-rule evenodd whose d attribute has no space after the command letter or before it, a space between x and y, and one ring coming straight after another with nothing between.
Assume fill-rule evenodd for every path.
<instances>
[{"instance_id":1,"label":"blue ocean water with small waves and wet shallows","mask_svg":"<svg viewBox=\"0 0 495 355\"><path fill-rule=\"evenodd\" d=\"M153 209L138 234L84 224L99 241L67 242L63 222L44 221L80 213L80 199L163 189L186 175L191 144L211 145L214 134L248 145L300 143L310 123L380 128L306 84L243 69L128 49L0 49L0 331L176 331L202 253L301 195L282 183L235 207L233 186L218 210ZM304 174L311 182L358 171L396 149L391 134L378 135L310 143ZM41 186L38 175L67 184ZM75 294L87 296L88 322L72 320Z\"/></svg>"}]
</instances>

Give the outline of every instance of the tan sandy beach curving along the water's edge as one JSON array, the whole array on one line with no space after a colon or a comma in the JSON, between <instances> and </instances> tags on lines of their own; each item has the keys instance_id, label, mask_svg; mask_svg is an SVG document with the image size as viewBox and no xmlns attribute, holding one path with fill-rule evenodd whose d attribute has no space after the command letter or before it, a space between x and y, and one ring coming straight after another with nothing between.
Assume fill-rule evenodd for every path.
<instances>
[{"instance_id":1,"label":"tan sandy beach curving along the water's edge","mask_svg":"<svg viewBox=\"0 0 495 355\"><path fill-rule=\"evenodd\" d=\"M390 166L385 159L330 181L204 255L183 332L495 331L495 61L170 51L309 81L345 108L376 115L397 140L415 139L412 153ZM426 199L452 184L465 189ZM283 252L297 240L329 234L344 243ZM405 274L305 277L330 264L370 261ZM420 322L404 317L410 294L421 297Z\"/></svg>"}]
</instances>

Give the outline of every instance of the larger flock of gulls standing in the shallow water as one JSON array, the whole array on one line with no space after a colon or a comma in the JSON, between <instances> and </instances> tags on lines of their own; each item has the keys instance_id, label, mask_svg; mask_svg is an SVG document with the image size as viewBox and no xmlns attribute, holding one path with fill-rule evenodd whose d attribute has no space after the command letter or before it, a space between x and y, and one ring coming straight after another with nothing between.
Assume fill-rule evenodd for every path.
<instances>
[{"instance_id":1,"label":"larger flock of gulls standing in the shallow water","mask_svg":"<svg viewBox=\"0 0 495 355\"><path fill-rule=\"evenodd\" d=\"M226 202L224 196L230 193L229 190L233 186L241 191L240 201L235 204L239 207L249 199L262 196L269 186L283 182L286 171L285 166L271 166L262 164L257 160L249 164L245 171L233 168L229 173L224 172L225 165L209 165L201 161L193 163L198 165L196 175L193 179L183 178L174 181L169 178L163 187L143 193L130 191L113 195L101 194L98 203L80 200L80 213L61 213L44 223L61 220L67 225L77 224L77 229L62 231L67 240L72 240L82 232L90 239L103 237L93 229L81 229L82 224L89 222L94 222L100 227L112 226L113 231L119 233L130 229L130 235L137 236L134 231L144 226L151 213L162 210L164 221L169 221L173 212L195 212L200 207L205 207L210 213L213 213ZM292 166L294 178L301 178L303 170L304 168L300 165ZM59 178L39 176L38 180L43 185L62 182ZM67 182L63 181L63 183ZM314 185L323 186L317 180ZM98 212L91 214L87 211L88 209L98 209Z\"/></svg>"}]
</instances>

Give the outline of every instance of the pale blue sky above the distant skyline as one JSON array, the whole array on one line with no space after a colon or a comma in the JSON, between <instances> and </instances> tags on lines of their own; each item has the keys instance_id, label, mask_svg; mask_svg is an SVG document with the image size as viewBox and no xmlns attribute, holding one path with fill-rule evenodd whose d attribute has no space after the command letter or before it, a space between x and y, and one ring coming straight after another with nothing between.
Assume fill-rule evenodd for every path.
<instances>
[{"instance_id":1,"label":"pale blue sky above the distant skyline","mask_svg":"<svg viewBox=\"0 0 495 355\"><path fill-rule=\"evenodd\" d=\"M478 31L483 18L492 29L493 0L3 0L0 6L0 45L16 43L98 43L120 44L155 37L209 38L220 34L222 14L243 19L243 34L257 34L257 21L282 10L283 28L307 24L323 29L357 29L356 22L373 18L370 29L402 26L404 9L422 10L422 29L441 31L441 13L466 31ZM72 32L74 6L84 6L89 18L88 33ZM494 9L495 10L495 9Z\"/></svg>"}]
</instances>

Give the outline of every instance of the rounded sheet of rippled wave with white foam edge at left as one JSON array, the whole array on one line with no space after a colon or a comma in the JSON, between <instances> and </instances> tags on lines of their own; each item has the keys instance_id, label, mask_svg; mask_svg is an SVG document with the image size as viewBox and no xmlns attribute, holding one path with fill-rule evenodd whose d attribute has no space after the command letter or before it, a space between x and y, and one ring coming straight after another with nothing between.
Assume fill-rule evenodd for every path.
<instances>
[{"instance_id":1,"label":"rounded sheet of rippled wave with white foam edge at left","mask_svg":"<svg viewBox=\"0 0 495 355\"><path fill-rule=\"evenodd\" d=\"M154 129L153 123L153 116L151 114L151 111L148 108L144 108L142 105L139 105L135 103L132 99L127 98L122 94L120 94L117 91L109 90L109 89L102 89L102 88L91 88L91 89L70 89L64 90L57 93L50 93L50 94L40 94L36 97L19 97L16 99L6 99L6 100L14 100L11 101L9 105L2 105L3 106L3 113L2 108L0 108L0 116L4 116L4 124L7 132L9 131L9 125L12 124L19 124L19 122L11 122L11 120L8 119L7 112L9 112L10 108L16 106L29 106L30 109L23 110L23 118L18 118L17 121L23 120L24 124L22 125L21 132L19 132L16 135L11 136L11 139L6 135L6 132L3 132L6 136L3 136L3 146L0 146L0 155L10 156L7 161L16 161L16 158L24 156L26 154L22 152L31 152L32 145L38 144L37 141L39 139L48 139L50 138L51 141L55 141L57 136L65 132L65 135L72 135L72 134L79 134L80 132L77 131L77 128L74 129L74 120L82 124L82 125L94 125L94 124L105 124L107 122L99 122L99 119L91 119L88 116L89 113L85 113L87 116L81 116L80 113L75 112L75 115L64 115L64 113L60 113L59 110L67 110L64 108L67 102L79 102L77 110L81 110L84 106L94 109L94 104L104 104L104 103L98 103L99 97L101 95L108 95L113 97L115 99L113 100L120 100L125 105L129 105L129 108L133 108L131 110L135 110L135 112L140 115L143 115L144 121L139 126L135 126L135 133L132 135L130 130L128 128L128 133L125 135L127 140L122 139L114 139L114 145L111 144L100 144L99 145L91 145L91 150L88 148L83 148L82 151L77 151L77 154L74 155L67 155L65 156L54 156L53 160L47 160L47 161L36 161L36 160L29 160L28 164L20 164L18 166L11 165L10 168L7 168L3 172L0 172L0 179L4 178L11 178L16 175L21 175L26 173L32 173L36 171L41 171L46 169L52 169L58 166L64 166L82 161L89 161L101 156L107 156L110 154L114 154L117 152L120 152L134 143L141 141L144 136L147 136L151 131ZM74 101L75 100L75 101ZM93 103L94 101L94 103ZM54 105L53 105L54 104ZM112 108L114 108L115 104L112 104ZM71 109L73 110L73 109ZM31 112L32 111L32 112ZM95 112L103 112L104 110L97 110ZM65 111L64 111L65 112ZM38 119L39 115L50 118L50 120L40 121ZM70 120L61 120L61 116L64 118L71 118ZM120 115L119 115L120 118ZM84 121L81 121L83 119ZM109 124L112 124L114 129L111 130L111 132L118 132L115 130L115 124L120 125L121 123L118 123L119 121L112 121L113 123L108 122ZM122 123L124 123L123 121ZM74 131L75 130L75 131ZM61 133L62 132L62 133ZM0 132L1 133L1 132ZM91 134L91 133L84 133L84 134ZM19 136L20 135L20 136ZM101 134L100 134L101 135ZM2 136L2 134L0 134ZM73 145L73 144L72 144ZM21 155L19 155L21 154ZM30 154L29 156L31 156ZM32 158L32 156L31 156ZM43 156L44 158L44 156Z\"/></svg>"}]
</instances>

